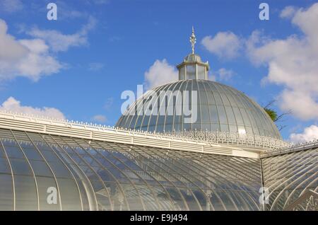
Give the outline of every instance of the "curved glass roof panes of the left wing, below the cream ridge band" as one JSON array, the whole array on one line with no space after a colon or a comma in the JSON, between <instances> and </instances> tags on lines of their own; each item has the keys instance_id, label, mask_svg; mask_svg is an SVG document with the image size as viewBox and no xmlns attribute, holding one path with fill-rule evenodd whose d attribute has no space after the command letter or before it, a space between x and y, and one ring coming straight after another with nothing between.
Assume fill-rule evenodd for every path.
<instances>
[{"instance_id":1,"label":"curved glass roof panes of the left wing, below the cream ridge band","mask_svg":"<svg viewBox=\"0 0 318 225\"><path fill-rule=\"evenodd\" d=\"M10 129L0 142L0 210L260 209L255 158Z\"/></svg>"}]
</instances>

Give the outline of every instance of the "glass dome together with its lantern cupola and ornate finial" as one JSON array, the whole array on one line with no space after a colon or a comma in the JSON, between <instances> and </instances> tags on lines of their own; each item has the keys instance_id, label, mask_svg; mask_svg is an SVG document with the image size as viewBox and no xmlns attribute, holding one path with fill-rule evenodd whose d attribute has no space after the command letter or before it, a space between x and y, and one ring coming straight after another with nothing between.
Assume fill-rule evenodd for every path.
<instances>
[{"instance_id":1,"label":"glass dome together with its lantern cupola and ornate finial","mask_svg":"<svg viewBox=\"0 0 318 225\"><path fill-rule=\"evenodd\" d=\"M208 132L281 139L269 115L235 88L208 80L208 62L192 53L181 64L179 81L158 86L130 105L117 127L146 132Z\"/></svg>"}]
</instances>

